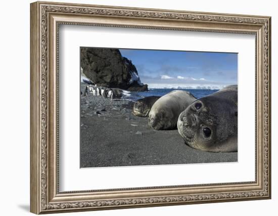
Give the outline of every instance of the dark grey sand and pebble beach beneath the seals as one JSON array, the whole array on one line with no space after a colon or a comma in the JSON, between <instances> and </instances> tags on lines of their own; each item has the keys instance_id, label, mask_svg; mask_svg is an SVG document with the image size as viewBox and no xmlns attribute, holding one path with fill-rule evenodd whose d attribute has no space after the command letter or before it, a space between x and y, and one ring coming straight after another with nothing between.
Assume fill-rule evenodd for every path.
<instances>
[{"instance_id":1,"label":"dark grey sand and pebble beach beneath the seals","mask_svg":"<svg viewBox=\"0 0 278 216\"><path fill-rule=\"evenodd\" d=\"M86 84L81 83L84 93ZM235 162L238 152L211 153L184 144L177 130L154 131L133 102L81 95L80 167Z\"/></svg>"}]
</instances>

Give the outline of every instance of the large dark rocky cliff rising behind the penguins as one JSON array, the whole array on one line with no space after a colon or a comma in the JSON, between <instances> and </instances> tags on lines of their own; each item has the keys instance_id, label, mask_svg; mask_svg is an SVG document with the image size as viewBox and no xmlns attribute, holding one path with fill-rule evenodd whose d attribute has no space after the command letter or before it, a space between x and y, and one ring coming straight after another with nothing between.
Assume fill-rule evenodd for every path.
<instances>
[{"instance_id":1,"label":"large dark rocky cliff rising behind the penguins","mask_svg":"<svg viewBox=\"0 0 278 216\"><path fill-rule=\"evenodd\" d=\"M136 67L118 49L81 48L83 75L102 87L147 91Z\"/></svg>"}]
</instances>

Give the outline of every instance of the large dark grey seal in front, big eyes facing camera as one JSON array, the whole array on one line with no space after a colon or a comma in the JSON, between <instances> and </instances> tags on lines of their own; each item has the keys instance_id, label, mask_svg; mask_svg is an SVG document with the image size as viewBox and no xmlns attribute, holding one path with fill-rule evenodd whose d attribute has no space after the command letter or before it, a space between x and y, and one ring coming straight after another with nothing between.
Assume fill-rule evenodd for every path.
<instances>
[{"instance_id":1,"label":"large dark grey seal in front, big eyes facing camera","mask_svg":"<svg viewBox=\"0 0 278 216\"><path fill-rule=\"evenodd\" d=\"M192 148L209 152L238 151L238 85L196 100L180 113L178 133Z\"/></svg>"}]
</instances>

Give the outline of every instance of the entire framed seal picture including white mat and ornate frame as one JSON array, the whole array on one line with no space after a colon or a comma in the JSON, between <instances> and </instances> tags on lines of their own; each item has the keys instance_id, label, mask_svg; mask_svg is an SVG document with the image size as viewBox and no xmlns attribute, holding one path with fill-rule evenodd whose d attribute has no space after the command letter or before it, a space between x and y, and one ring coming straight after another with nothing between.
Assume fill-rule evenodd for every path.
<instances>
[{"instance_id":1,"label":"entire framed seal picture including white mat and ornate frame","mask_svg":"<svg viewBox=\"0 0 278 216\"><path fill-rule=\"evenodd\" d=\"M270 63L269 16L32 3L30 211L270 199Z\"/></svg>"}]
</instances>

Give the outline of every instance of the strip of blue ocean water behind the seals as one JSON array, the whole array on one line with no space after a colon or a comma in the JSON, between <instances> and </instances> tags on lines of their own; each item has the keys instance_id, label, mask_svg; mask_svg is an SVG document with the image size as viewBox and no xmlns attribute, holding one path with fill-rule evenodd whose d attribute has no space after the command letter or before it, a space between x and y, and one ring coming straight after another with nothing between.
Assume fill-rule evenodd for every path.
<instances>
[{"instance_id":1,"label":"strip of blue ocean water behind the seals","mask_svg":"<svg viewBox=\"0 0 278 216\"><path fill-rule=\"evenodd\" d=\"M149 96L163 96L168 94L169 92L174 91L175 89L149 89L147 92L128 92L124 91L123 99L136 101L141 98L149 97ZM218 90L203 90L203 89L179 89L190 92L197 99L210 95Z\"/></svg>"}]
</instances>

